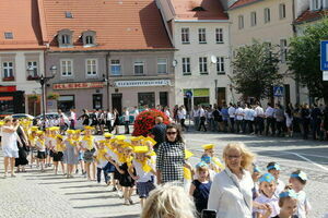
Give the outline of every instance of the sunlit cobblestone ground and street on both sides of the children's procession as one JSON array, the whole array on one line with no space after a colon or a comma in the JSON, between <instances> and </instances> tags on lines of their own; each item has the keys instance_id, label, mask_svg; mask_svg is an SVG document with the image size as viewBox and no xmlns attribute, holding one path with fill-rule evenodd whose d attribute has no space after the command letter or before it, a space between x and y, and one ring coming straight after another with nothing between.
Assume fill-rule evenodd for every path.
<instances>
[{"instance_id":1,"label":"sunlit cobblestone ground and street on both sides of the children's procession","mask_svg":"<svg viewBox=\"0 0 328 218\"><path fill-rule=\"evenodd\" d=\"M304 170L309 182L305 187L313 210L309 218L321 218L328 213L328 144L300 138L258 137L253 135L213 134L188 132L187 147L199 161L201 145L214 143L216 155L222 156L224 145L244 142L257 154L262 169L269 161L282 167L282 180L295 169ZM140 204L136 195L134 205L125 206L112 186L86 181L81 174L73 179L55 175L51 169L40 173L34 166L16 178L3 179L3 158L0 152L0 217L139 217Z\"/></svg>"}]
</instances>

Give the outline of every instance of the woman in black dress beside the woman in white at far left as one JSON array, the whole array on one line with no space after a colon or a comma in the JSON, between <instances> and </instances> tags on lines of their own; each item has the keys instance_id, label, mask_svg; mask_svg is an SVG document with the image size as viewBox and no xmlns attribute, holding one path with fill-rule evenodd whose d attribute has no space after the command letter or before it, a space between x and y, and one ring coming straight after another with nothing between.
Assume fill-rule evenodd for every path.
<instances>
[{"instance_id":1,"label":"woman in black dress beside the woman in white at far left","mask_svg":"<svg viewBox=\"0 0 328 218\"><path fill-rule=\"evenodd\" d=\"M13 122L15 123L19 121L13 119ZM15 158L15 167L17 168L17 172L21 171L20 167L22 167L22 172L25 172L24 166L28 164L27 160L28 141L21 125L19 125L16 133L19 135L19 140L17 140L19 158Z\"/></svg>"}]
</instances>

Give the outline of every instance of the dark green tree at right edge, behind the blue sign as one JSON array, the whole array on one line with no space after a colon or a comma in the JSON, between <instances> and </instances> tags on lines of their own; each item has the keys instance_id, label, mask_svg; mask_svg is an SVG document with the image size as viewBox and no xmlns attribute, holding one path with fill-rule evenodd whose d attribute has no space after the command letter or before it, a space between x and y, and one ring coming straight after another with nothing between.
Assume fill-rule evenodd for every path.
<instances>
[{"instance_id":1,"label":"dark green tree at right edge, behind the blue sign","mask_svg":"<svg viewBox=\"0 0 328 218\"><path fill-rule=\"evenodd\" d=\"M320 40L328 39L328 19L308 25L304 35L291 39L288 65L295 78L308 89L309 96L328 104L328 82L320 71Z\"/></svg>"}]
</instances>

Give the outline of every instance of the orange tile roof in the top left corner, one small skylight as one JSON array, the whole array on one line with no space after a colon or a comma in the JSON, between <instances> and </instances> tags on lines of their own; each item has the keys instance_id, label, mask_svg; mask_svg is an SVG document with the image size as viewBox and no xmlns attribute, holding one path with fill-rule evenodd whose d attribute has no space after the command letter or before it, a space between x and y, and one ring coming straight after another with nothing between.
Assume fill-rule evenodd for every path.
<instances>
[{"instance_id":1,"label":"orange tile roof in the top left corner, one small skylight","mask_svg":"<svg viewBox=\"0 0 328 218\"><path fill-rule=\"evenodd\" d=\"M37 0L0 1L0 50L44 49L37 10Z\"/></svg>"}]
</instances>

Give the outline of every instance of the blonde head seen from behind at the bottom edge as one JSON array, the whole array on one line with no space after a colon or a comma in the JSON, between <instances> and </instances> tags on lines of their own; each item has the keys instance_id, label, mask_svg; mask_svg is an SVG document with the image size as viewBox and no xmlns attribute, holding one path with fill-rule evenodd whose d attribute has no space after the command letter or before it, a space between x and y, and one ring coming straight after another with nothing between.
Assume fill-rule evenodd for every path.
<instances>
[{"instance_id":1,"label":"blonde head seen from behind at the bottom edge","mask_svg":"<svg viewBox=\"0 0 328 218\"><path fill-rule=\"evenodd\" d=\"M141 218L195 218L192 199L180 186L165 183L150 193L144 203Z\"/></svg>"}]
</instances>

